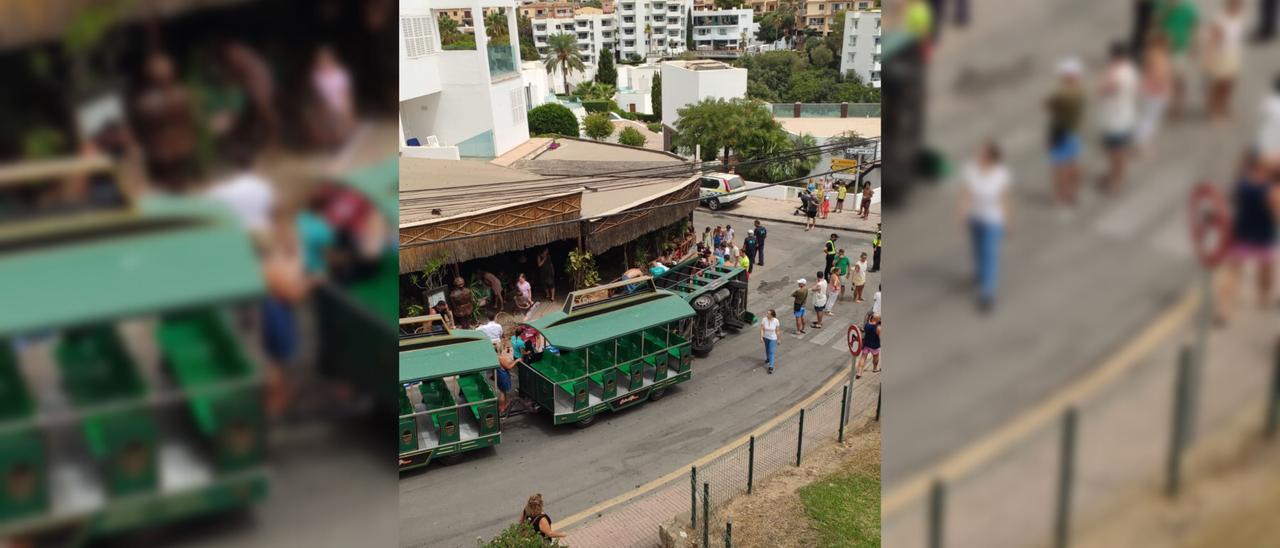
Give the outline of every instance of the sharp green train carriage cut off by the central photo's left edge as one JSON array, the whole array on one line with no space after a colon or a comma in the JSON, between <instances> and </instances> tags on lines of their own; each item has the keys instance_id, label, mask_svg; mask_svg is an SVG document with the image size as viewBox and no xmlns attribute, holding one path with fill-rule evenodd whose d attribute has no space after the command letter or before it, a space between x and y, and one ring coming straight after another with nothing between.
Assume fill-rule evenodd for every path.
<instances>
[{"instance_id":1,"label":"sharp green train carriage cut off by the central photo's left edge","mask_svg":"<svg viewBox=\"0 0 1280 548\"><path fill-rule=\"evenodd\" d=\"M451 330L439 315L399 323L424 328L399 341L399 469L448 463L500 443L498 392L489 378L498 355L489 338Z\"/></svg>"}]
</instances>

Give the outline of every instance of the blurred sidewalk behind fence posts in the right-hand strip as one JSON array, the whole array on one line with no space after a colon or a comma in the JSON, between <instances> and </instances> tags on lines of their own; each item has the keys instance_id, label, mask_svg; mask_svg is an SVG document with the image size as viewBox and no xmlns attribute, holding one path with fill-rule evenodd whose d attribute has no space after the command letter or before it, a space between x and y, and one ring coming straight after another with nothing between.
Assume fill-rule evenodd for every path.
<instances>
[{"instance_id":1,"label":"blurred sidewalk behind fence posts in the right-hand strip","mask_svg":"<svg viewBox=\"0 0 1280 548\"><path fill-rule=\"evenodd\" d=\"M1239 316L1210 334L1210 356L1199 380L1196 440L1210 440L1228 430L1242 410L1265 397L1275 343L1270 311L1257 310L1242 291ZM1198 309L1196 309L1198 312ZM1074 402L1079 408L1073 529L1125 530L1117 522L1116 503L1134 492L1147 501L1164 501L1162 471L1169 455L1174 371L1178 351L1189 344L1194 315L1183 318L1172 337L1096 392ZM892 416L892 415L891 415ZM1256 435L1256 434L1254 434ZM970 474L945 478L945 543L952 547L1028 545L1051 539L1057 489L1061 424L1050 421L995 449ZM1187 483L1222 474L1222 470L1184 469ZM1203 503L1203 501L1202 501ZM884 545L927 544L928 497L914 499L884 516ZM1115 545L1115 544L1112 544Z\"/></svg>"}]
</instances>

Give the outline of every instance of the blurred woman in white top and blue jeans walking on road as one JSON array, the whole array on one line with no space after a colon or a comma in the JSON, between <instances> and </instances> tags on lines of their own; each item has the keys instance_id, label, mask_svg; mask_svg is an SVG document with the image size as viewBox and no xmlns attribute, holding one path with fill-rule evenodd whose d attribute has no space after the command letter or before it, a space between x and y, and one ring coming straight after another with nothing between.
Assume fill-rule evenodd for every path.
<instances>
[{"instance_id":1,"label":"blurred woman in white top and blue jeans walking on road","mask_svg":"<svg viewBox=\"0 0 1280 548\"><path fill-rule=\"evenodd\" d=\"M965 168L960 209L969 224L974 273L978 282L978 307L991 311L1000 279L1000 245L1009 216L1009 169L1001 164L1000 149L988 142L978 161Z\"/></svg>"}]
</instances>

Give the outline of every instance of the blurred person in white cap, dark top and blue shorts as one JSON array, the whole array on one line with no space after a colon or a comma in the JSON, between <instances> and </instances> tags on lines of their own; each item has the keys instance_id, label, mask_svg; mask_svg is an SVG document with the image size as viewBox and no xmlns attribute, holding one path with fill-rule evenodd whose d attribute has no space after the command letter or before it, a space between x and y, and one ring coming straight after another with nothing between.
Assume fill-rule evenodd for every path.
<instances>
[{"instance_id":1,"label":"blurred person in white cap, dark top and blue shorts","mask_svg":"<svg viewBox=\"0 0 1280 548\"><path fill-rule=\"evenodd\" d=\"M1053 165L1053 193L1059 205L1075 205L1080 184L1080 120L1084 118L1084 65L1076 58L1059 61L1057 90L1044 101L1048 109L1048 157Z\"/></svg>"}]
</instances>

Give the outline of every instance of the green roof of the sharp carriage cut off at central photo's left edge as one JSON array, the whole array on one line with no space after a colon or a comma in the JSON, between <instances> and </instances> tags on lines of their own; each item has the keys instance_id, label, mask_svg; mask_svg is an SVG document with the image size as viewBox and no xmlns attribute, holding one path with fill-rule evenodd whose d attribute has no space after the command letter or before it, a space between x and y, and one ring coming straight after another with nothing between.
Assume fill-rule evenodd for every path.
<instances>
[{"instance_id":1,"label":"green roof of the sharp carriage cut off at central photo's left edge","mask_svg":"<svg viewBox=\"0 0 1280 548\"><path fill-rule=\"evenodd\" d=\"M498 353L493 350L489 337L474 329L456 329L444 337L407 337L401 339L401 346L433 339L439 341L425 348L401 351L401 383L498 367Z\"/></svg>"}]
</instances>

